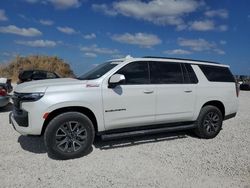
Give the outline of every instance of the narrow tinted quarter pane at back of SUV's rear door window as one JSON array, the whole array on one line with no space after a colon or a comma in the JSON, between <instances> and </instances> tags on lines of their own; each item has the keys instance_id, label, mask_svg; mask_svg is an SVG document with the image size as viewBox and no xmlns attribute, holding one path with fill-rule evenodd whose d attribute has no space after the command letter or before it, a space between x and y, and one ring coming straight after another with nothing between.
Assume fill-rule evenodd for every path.
<instances>
[{"instance_id":1,"label":"narrow tinted quarter pane at back of SUV's rear door window","mask_svg":"<svg viewBox=\"0 0 250 188\"><path fill-rule=\"evenodd\" d=\"M191 64L182 64L182 70L184 75L184 82L187 84L196 84L198 83L197 76L191 66Z\"/></svg>"}]
</instances>

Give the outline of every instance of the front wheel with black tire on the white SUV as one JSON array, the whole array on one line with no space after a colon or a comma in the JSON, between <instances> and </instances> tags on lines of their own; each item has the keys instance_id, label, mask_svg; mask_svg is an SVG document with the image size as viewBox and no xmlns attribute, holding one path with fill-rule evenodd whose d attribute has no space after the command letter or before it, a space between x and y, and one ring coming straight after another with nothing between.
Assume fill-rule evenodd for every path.
<instances>
[{"instance_id":1,"label":"front wheel with black tire on the white SUV","mask_svg":"<svg viewBox=\"0 0 250 188\"><path fill-rule=\"evenodd\" d=\"M79 112L66 112L53 118L44 133L48 153L57 159L88 154L95 137L91 120Z\"/></svg>"}]
</instances>

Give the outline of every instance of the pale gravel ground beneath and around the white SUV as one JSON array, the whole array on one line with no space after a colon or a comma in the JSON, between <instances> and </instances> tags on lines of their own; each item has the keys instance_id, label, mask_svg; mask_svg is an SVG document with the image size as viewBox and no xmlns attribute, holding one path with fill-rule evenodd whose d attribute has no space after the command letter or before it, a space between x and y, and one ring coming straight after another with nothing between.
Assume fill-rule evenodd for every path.
<instances>
[{"instance_id":1,"label":"pale gravel ground beneath and around the white SUV","mask_svg":"<svg viewBox=\"0 0 250 188\"><path fill-rule=\"evenodd\" d=\"M212 140L185 132L101 142L85 157L48 157L41 137L21 136L0 111L0 187L250 188L250 92Z\"/></svg>"}]
</instances>

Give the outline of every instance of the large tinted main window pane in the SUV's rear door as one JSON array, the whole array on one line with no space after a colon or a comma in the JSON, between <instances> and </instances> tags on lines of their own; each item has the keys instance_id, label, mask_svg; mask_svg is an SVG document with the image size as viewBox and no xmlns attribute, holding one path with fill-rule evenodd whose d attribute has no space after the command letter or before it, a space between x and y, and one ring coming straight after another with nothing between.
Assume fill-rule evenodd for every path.
<instances>
[{"instance_id":1,"label":"large tinted main window pane in the SUV's rear door","mask_svg":"<svg viewBox=\"0 0 250 188\"><path fill-rule=\"evenodd\" d=\"M150 78L153 84L182 84L181 65L171 62L151 62Z\"/></svg>"}]
</instances>

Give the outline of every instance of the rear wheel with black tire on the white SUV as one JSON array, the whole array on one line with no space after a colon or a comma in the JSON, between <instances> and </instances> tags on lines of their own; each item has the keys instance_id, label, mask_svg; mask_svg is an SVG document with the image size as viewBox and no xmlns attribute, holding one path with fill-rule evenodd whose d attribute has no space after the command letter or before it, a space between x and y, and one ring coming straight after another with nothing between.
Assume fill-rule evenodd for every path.
<instances>
[{"instance_id":1,"label":"rear wheel with black tire on the white SUV","mask_svg":"<svg viewBox=\"0 0 250 188\"><path fill-rule=\"evenodd\" d=\"M214 138L222 128L223 116L221 111L215 106L204 106L197 119L195 133L200 138Z\"/></svg>"}]
</instances>

